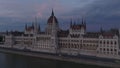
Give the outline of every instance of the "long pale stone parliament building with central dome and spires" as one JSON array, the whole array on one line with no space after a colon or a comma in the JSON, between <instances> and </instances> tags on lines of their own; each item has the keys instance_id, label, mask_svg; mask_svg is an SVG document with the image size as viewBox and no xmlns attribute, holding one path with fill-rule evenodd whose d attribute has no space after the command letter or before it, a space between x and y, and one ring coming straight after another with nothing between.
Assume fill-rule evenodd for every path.
<instances>
[{"instance_id":1,"label":"long pale stone parliament building with central dome and spires","mask_svg":"<svg viewBox=\"0 0 120 68\"><path fill-rule=\"evenodd\" d=\"M20 50L43 53L86 55L102 58L120 59L120 30L110 29L86 32L86 22L70 22L68 30L59 28L59 22L52 11L44 31L35 21L25 25L23 32L6 32L4 46Z\"/></svg>"}]
</instances>

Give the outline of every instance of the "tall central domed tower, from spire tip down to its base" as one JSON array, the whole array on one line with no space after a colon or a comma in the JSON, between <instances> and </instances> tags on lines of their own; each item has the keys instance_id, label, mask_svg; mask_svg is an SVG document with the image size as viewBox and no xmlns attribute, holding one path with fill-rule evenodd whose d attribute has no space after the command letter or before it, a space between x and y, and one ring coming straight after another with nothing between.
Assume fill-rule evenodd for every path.
<instances>
[{"instance_id":1,"label":"tall central domed tower, from spire tip down to its base","mask_svg":"<svg viewBox=\"0 0 120 68\"><path fill-rule=\"evenodd\" d=\"M58 50L58 37L57 33L59 31L58 20L54 16L54 12L52 10L51 16L47 22L46 33L51 35L51 48L53 49L53 53L57 53Z\"/></svg>"}]
</instances>

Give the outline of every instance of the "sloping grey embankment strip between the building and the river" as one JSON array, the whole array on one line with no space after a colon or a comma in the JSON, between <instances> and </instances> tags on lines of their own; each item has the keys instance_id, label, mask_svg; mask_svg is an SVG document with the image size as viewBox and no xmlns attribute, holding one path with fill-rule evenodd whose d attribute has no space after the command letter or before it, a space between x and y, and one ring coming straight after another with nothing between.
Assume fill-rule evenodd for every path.
<instances>
[{"instance_id":1,"label":"sloping grey embankment strip between the building and the river","mask_svg":"<svg viewBox=\"0 0 120 68\"><path fill-rule=\"evenodd\" d=\"M58 56L58 55L52 55L52 54L44 54L44 53L39 53L39 52L21 51L21 50L7 49L7 48L0 48L0 52L39 57L39 58L45 58L45 59L82 63L82 64L89 64L89 65L120 68L119 63L101 62L101 61L87 60L87 59L81 59L81 58L75 58L75 57L65 57L65 56Z\"/></svg>"}]
</instances>

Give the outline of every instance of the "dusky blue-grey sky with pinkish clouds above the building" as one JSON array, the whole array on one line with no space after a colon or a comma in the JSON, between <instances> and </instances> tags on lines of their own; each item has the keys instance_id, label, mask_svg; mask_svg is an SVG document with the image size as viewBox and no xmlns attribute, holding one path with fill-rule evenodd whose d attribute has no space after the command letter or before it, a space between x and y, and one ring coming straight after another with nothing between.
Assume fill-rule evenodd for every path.
<instances>
[{"instance_id":1,"label":"dusky blue-grey sky with pinkish clouds above the building","mask_svg":"<svg viewBox=\"0 0 120 68\"><path fill-rule=\"evenodd\" d=\"M35 17L43 30L52 9L64 30L82 17L88 31L120 28L120 0L0 0L0 31L23 31Z\"/></svg>"}]
</instances>

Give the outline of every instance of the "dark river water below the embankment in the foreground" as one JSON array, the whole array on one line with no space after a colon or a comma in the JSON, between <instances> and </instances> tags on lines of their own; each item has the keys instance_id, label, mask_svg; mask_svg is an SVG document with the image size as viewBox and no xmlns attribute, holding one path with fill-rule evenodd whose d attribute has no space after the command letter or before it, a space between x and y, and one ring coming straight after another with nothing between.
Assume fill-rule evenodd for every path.
<instances>
[{"instance_id":1,"label":"dark river water below the embankment in the foreground","mask_svg":"<svg viewBox=\"0 0 120 68\"><path fill-rule=\"evenodd\" d=\"M42 58L0 53L0 68L106 68Z\"/></svg>"}]
</instances>

